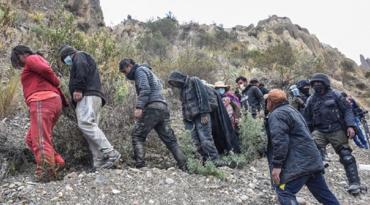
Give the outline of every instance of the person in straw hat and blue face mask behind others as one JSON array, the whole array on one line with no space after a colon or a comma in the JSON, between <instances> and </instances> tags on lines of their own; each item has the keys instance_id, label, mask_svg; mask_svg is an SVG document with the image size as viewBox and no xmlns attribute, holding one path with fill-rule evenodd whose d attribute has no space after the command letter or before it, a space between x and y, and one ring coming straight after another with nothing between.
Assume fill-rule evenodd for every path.
<instances>
[{"instance_id":1,"label":"person in straw hat and blue face mask behind others","mask_svg":"<svg viewBox=\"0 0 370 205\"><path fill-rule=\"evenodd\" d=\"M215 88L220 95L226 110L229 114L234 131L237 133L237 124L241 117L241 104L239 99L230 92L230 85L225 85L224 82L218 81L215 83Z\"/></svg>"}]
</instances>

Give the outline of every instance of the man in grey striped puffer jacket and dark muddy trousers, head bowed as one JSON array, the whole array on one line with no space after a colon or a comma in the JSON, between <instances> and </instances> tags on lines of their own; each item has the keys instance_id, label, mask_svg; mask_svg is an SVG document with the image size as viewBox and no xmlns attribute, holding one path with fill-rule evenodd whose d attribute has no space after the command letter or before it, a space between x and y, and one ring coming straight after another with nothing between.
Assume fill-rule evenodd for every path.
<instances>
[{"instance_id":1,"label":"man in grey striped puffer jacket and dark muddy trousers, head bowed","mask_svg":"<svg viewBox=\"0 0 370 205\"><path fill-rule=\"evenodd\" d=\"M138 65L132 59L122 59L119 69L128 80L135 81L136 94L135 123L132 132L132 143L136 168L145 166L144 142L149 132L154 128L159 138L174 156L180 170L187 172L186 158L177 143L171 128L170 111L162 96L162 85L151 71L148 64Z\"/></svg>"}]
</instances>

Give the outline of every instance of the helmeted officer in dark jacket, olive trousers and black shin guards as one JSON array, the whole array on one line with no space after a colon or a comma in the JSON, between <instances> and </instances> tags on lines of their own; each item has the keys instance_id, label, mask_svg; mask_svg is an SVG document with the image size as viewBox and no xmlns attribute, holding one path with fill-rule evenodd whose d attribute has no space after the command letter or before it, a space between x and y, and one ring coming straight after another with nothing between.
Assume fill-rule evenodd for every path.
<instances>
[{"instance_id":1,"label":"helmeted officer in dark jacket, olive trousers and black shin guards","mask_svg":"<svg viewBox=\"0 0 370 205\"><path fill-rule=\"evenodd\" d=\"M313 130L313 139L319 150L330 143L339 155L349 182L346 188L350 194L367 191L360 183L356 159L348 144L348 138L355 136L356 129L352 107L339 92L330 88L326 74L316 73L310 84L315 92L307 99L304 118Z\"/></svg>"}]
</instances>

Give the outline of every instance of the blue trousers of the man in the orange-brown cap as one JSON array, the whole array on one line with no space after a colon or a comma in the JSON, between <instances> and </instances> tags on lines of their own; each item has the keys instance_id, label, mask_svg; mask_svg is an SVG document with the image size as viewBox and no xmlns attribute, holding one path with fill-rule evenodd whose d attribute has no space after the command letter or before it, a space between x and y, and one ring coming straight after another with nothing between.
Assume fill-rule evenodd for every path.
<instances>
[{"instance_id":1,"label":"blue trousers of the man in the orange-brown cap","mask_svg":"<svg viewBox=\"0 0 370 205\"><path fill-rule=\"evenodd\" d=\"M298 205L295 194L299 192L303 185L306 184L312 195L324 205L340 204L335 195L329 190L325 178L321 172L308 174L276 188L279 203L281 205Z\"/></svg>"}]
</instances>

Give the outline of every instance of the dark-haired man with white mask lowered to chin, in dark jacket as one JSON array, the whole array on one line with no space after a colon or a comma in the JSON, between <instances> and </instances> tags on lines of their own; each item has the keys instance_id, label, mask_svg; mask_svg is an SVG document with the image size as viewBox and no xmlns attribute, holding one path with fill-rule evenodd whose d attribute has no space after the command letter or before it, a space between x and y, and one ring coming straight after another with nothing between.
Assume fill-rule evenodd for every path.
<instances>
[{"instance_id":1,"label":"dark-haired man with white mask lowered to chin, in dark jacket","mask_svg":"<svg viewBox=\"0 0 370 205\"><path fill-rule=\"evenodd\" d=\"M237 77L235 82L237 85L234 94L239 98L242 108L250 109L253 118L257 118L257 114L260 112L261 108L265 108L266 104L261 90L251 83L248 83L247 78L243 76ZM239 93L239 88L242 90L242 93Z\"/></svg>"}]
</instances>

